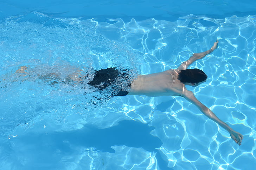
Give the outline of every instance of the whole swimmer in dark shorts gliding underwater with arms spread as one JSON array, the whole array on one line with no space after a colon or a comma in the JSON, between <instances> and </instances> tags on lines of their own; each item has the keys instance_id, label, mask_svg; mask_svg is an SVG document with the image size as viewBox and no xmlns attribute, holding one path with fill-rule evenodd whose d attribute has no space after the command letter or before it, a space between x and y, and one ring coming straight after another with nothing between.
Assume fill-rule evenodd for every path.
<instances>
[{"instance_id":1,"label":"whole swimmer in dark shorts gliding underwater with arms spread","mask_svg":"<svg viewBox=\"0 0 256 170\"><path fill-rule=\"evenodd\" d=\"M243 135L234 131L226 123L221 121L209 108L204 106L197 98L194 96L192 91L186 89L188 86L198 86L207 79L207 75L199 69L187 69L190 64L198 59L202 59L207 54L212 53L217 49L218 40L214 43L211 49L193 54L190 59L183 62L177 69L170 69L160 73L153 73L148 75L139 75L130 84L127 84L127 90L119 89L119 84L124 83L129 78L129 72L126 69L117 70L116 68L101 69L95 72L92 80L88 84L95 88L95 91L102 91L108 86L112 86L114 89L114 96L125 96L125 95L146 95L146 96L181 96L186 98L191 103L195 104L204 115L206 115L211 120L218 123L221 127L226 129L231 138L238 144L241 145ZM27 67L22 66L16 71L16 73L26 73ZM117 82L117 77L119 77L119 82ZM50 73L44 76L39 76L40 79L46 82L51 82L50 85L54 85L60 81L60 77L55 73ZM68 79L61 80L62 83L69 83L73 81L75 83L81 82L83 84L83 79L87 76L77 77L68 76ZM53 81L54 80L54 81ZM121 80L121 82L120 82ZM127 82L126 82L127 83ZM82 88L88 88L84 86ZM97 97L95 97L97 98Z\"/></svg>"}]
</instances>

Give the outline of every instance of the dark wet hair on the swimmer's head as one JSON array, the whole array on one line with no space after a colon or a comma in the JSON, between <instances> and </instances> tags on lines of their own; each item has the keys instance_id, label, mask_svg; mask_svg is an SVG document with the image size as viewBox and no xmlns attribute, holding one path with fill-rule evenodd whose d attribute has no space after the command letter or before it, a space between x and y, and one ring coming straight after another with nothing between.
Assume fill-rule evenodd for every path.
<instances>
[{"instance_id":1,"label":"dark wet hair on the swimmer's head","mask_svg":"<svg viewBox=\"0 0 256 170\"><path fill-rule=\"evenodd\" d=\"M181 70L178 76L181 83L199 83L206 79L207 75L197 68Z\"/></svg>"}]
</instances>

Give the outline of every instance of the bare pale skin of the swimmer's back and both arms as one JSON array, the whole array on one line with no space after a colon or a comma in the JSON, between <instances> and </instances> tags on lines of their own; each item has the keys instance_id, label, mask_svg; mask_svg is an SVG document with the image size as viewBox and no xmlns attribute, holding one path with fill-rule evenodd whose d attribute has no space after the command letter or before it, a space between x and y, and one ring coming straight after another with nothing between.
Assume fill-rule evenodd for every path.
<instances>
[{"instance_id":1,"label":"bare pale skin of the swimmer's back and both arms","mask_svg":"<svg viewBox=\"0 0 256 170\"><path fill-rule=\"evenodd\" d=\"M218 123L221 127L230 133L231 138L241 145L243 135L234 131L228 124L220 120L209 108L197 100L192 91L186 89L185 85L198 86L199 83L181 83L178 80L180 70L185 70L198 59L202 59L207 54L212 53L217 49L218 40L214 43L211 49L193 54L190 59L183 62L177 69L170 69L160 73L139 75L131 84L128 95L146 95L146 96L181 96L189 102L195 104L199 110L208 118ZM205 82L205 81L204 81Z\"/></svg>"}]
</instances>

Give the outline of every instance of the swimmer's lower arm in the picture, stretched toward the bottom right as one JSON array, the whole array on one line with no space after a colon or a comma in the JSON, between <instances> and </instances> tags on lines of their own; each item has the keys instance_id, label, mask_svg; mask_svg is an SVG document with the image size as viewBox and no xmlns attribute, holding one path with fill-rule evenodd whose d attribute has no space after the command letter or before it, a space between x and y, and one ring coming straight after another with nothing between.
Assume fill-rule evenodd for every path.
<instances>
[{"instance_id":1,"label":"swimmer's lower arm in the picture, stretched toward the bottom right","mask_svg":"<svg viewBox=\"0 0 256 170\"><path fill-rule=\"evenodd\" d=\"M206 106L204 106L204 104L202 104L201 102L199 102L197 100L197 98L194 96L192 91L188 91L186 90L183 97L185 97L188 101L190 101L191 103L195 104L200 110L201 112L203 112L203 114L205 116L207 116L208 118L210 118L211 120L215 121L216 123L218 123L221 127L223 127L224 129L226 129L226 131L228 131L230 133L231 138L238 144L241 145L242 139L243 139L243 135L241 135L240 133L234 131L232 128L229 127L228 124L226 124L225 122L223 122L222 120L220 120L209 108L207 108Z\"/></svg>"}]
</instances>

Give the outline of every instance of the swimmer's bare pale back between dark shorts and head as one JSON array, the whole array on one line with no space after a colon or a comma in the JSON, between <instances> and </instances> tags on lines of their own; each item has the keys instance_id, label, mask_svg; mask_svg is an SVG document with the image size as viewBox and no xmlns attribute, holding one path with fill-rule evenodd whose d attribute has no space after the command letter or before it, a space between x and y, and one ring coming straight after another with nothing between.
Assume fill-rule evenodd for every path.
<instances>
[{"instance_id":1,"label":"swimmer's bare pale back between dark shorts and head","mask_svg":"<svg viewBox=\"0 0 256 170\"><path fill-rule=\"evenodd\" d=\"M178 78L179 70L139 75L131 84L128 95L175 96L182 95L185 88Z\"/></svg>"}]
</instances>

